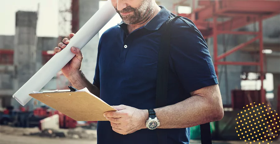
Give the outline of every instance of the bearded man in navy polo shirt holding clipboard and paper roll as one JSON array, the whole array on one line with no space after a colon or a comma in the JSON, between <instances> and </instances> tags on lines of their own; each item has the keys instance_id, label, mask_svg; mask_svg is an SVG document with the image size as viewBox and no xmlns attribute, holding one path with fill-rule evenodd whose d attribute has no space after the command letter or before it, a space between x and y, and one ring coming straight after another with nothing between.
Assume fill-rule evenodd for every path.
<instances>
[{"instance_id":1,"label":"bearded man in navy polo shirt holding clipboard and paper roll","mask_svg":"<svg viewBox=\"0 0 280 144\"><path fill-rule=\"evenodd\" d=\"M62 68L74 87L87 87L118 110L104 113L109 121L98 122L97 143L157 144L158 139L163 139L157 131L164 130L168 144L187 144L190 127L221 120L223 107L217 76L196 26L187 18L172 25L168 106L156 108L162 25L175 15L155 0L112 0L112 5L122 23L100 38L93 84L81 71L83 57L78 48L71 48L76 56ZM70 38L73 36L71 33ZM63 39L55 52L68 43L67 38ZM152 122L147 122L149 118Z\"/></svg>"}]
</instances>

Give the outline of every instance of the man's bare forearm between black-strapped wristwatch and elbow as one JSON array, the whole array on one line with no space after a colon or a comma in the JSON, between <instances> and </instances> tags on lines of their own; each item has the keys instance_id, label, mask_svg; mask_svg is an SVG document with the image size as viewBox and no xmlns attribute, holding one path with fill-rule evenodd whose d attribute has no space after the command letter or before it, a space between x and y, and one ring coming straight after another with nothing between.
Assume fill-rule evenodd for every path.
<instances>
[{"instance_id":1,"label":"man's bare forearm between black-strapped wristwatch and elbow","mask_svg":"<svg viewBox=\"0 0 280 144\"><path fill-rule=\"evenodd\" d=\"M220 105L194 95L180 103L156 108L160 129L189 128L221 119Z\"/></svg>"}]
</instances>

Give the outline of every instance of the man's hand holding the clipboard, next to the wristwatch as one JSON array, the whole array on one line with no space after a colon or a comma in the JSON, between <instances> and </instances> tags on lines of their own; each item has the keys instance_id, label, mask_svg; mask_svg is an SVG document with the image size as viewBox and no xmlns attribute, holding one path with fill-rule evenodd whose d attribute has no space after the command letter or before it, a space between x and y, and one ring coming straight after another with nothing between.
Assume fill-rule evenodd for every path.
<instances>
[{"instance_id":1,"label":"man's hand holding the clipboard, next to the wristwatch","mask_svg":"<svg viewBox=\"0 0 280 144\"><path fill-rule=\"evenodd\" d=\"M113 106L117 111L108 111L104 116L111 122L112 129L120 134L134 133L146 128L148 110L125 105Z\"/></svg>"}]
</instances>

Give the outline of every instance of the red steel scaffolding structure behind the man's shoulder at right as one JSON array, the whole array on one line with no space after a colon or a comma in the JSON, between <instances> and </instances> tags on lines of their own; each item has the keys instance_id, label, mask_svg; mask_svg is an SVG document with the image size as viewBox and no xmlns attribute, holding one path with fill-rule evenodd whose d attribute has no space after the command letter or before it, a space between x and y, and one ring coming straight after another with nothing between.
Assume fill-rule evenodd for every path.
<instances>
[{"instance_id":1,"label":"red steel scaffolding structure behind the man's shoulder at right","mask_svg":"<svg viewBox=\"0 0 280 144\"><path fill-rule=\"evenodd\" d=\"M176 6L183 5L186 0L175 3ZM198 2L199 8L195 9L195 2ZM264 55L263 55L263 24L264 19L278 15L280 13L280 1L275 0L193 0L193 11L191 14L178 14L191 19L203 37L213 37L213 63L216 74L218 76L218 65L251 65L259 66L261 80L261 101L266 102L265 90L263 87L264 81ZM218 18L228 18L227 21L218 21ZM244 27L248 24L259 23L258 32L247 31L232 31L237 28ZM234 35L255 35L249 41L246 41L225 53L218 55L217 36L219 34L234 34ZM226 56L231 55L259 40L259 61L258 62L234 62L220 61Z\"/></svg>"}]
</instances>

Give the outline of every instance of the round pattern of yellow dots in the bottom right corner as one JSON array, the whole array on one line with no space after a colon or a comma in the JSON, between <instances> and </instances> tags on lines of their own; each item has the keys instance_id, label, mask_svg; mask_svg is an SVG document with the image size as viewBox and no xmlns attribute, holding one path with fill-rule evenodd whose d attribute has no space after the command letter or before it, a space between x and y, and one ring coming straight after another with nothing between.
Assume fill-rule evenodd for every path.
<instances>
[{"instance_id":1,"label":"round pattern of yellow dots in the bottom right corner","mask_svg":"<svg viewBox=\"0 0 280 144\"><path fill-rule=\"evenodd\" d=\"M235 127L240 140L246 144L269 144L280 133L279 115L269 105L250 103L238 113ZM254 134L253 134L254 133Z\"/></svg>"}]
</instances>

